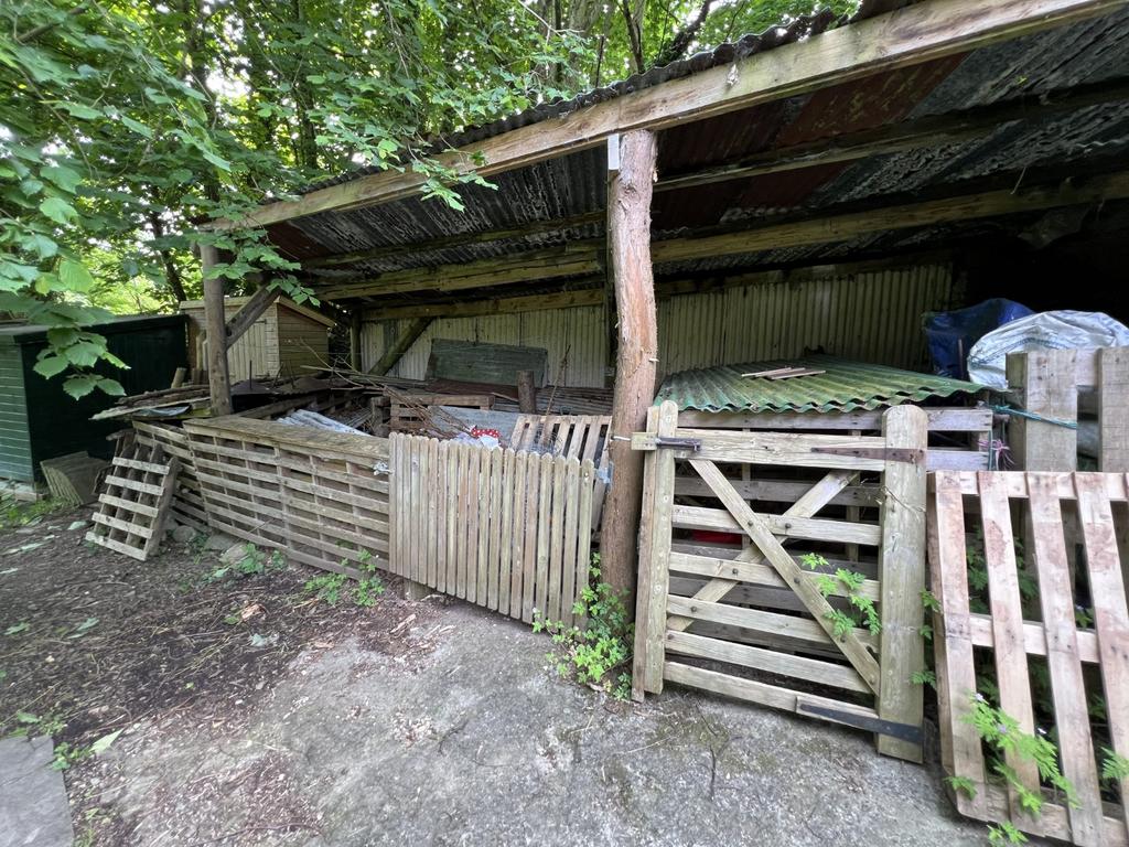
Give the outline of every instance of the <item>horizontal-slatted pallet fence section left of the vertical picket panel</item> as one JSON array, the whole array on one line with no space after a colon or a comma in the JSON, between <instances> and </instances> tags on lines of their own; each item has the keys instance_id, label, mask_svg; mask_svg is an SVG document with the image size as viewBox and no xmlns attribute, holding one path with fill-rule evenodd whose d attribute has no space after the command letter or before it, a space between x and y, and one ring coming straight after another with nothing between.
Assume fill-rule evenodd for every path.
<instances>
[{"instance_id":1,"label":"horizontal-slatted pallet fence section left of the vertical picket panel","mask_svg":"<svg viewBox=\"0 0 1129 847\"><path fill-rule=\"evenodd\" d=\"M391 569L387 439L235 416L184 430L209 526L327 570Z\"/></svg>"}]
</instances>

